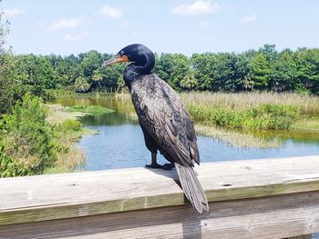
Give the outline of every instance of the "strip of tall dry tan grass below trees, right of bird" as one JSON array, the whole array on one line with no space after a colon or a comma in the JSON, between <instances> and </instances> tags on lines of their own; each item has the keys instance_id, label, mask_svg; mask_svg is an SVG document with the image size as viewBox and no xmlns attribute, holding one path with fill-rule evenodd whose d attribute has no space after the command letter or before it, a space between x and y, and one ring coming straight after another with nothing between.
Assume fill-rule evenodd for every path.
<instances>
[{"instance_id":1,"label":"strip of tall dry tan grass below trees, right of bird","mask_svg":"<svg viewBox=\"0 0 319 239\"><path fill-rule=\"evenodd\" d=\"M205 107L227 107L245 110L259 105L293 105L305 115L319 115L319 96L297 95L293 93L181 93L186 105L203 105Z\"/></svg>"}]
</instances>

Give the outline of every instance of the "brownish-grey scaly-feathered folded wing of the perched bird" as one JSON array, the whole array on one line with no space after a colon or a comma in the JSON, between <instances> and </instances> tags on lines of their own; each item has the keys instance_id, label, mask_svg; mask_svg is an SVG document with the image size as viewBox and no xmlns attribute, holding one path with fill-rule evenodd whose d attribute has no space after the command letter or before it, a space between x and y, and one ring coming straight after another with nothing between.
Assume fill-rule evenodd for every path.
<instances>
[{"instance_id":1,"label":"brownish-grey scaly-feathered folded wing of the perched bird","mask_svg":"<svg viewBox=\"0 0 319 239\"><path fill-rule=\"evenodd\" d=\"M139 124L160 146L160 153L184 166L200 163L194 125L180 96L157 75L139 75L131 88Z\"/></svg>"}]
</instances>

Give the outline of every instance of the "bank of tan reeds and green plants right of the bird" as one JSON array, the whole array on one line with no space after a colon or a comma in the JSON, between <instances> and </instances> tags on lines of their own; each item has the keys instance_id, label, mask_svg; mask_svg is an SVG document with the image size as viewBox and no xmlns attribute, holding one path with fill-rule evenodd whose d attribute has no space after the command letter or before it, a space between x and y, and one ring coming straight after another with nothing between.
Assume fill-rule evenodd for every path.
<instances>
[{"instance_id":1,"label":"bank of tan reeds and green plants right of the bird","mask_svg":"<svg viewBox=\"0 0 319 239\"><path fill-rule=\"evenodd\" d=\"M319 115L319 97L310 95L189 93L181 97L195 122L227 128L286 130ZM312 121L309 128L317 119Z\"/></svg>"}]
</instances>

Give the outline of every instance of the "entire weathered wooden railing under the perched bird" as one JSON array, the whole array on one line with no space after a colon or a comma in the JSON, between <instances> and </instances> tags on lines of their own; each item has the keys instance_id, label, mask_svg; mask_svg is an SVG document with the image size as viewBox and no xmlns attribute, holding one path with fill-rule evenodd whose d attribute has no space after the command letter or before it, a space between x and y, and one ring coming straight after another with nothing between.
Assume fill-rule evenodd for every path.
<instances>
[{"instance_id":1,"label":"entire weathered wooden railing under the perched bird","mask_svg":"<svg viewBox=\"0 0 319 239\"><path fill-rule=\"evenodd\" d=\"M201 164L198 214L175 170L127 168L0 179L0 238L310 238L319 156Z\"/></svg>"}]
</instances>

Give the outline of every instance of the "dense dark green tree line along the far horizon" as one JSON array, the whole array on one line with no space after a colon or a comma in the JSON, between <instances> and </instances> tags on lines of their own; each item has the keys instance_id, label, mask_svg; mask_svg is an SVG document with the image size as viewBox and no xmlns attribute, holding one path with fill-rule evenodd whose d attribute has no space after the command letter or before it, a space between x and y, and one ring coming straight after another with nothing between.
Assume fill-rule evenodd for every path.
<instances>
[{"instance_id":1,"label":"dense dark green tree line along the far horizon","mask_svg":"<svg viewBox=\"0 0 319 239\"><path fill-rule=\"evenodd\" d=\"M123 88L125 65L101 67L110 54L2 55L11 61L15 79L42 89L77 92ZM10 59L11 58L11 59ZM275 45L242 53L156 55L153 72L179 91L275 91L319 95L319 49L277 51Z\"/></svg>"}]
</instances>

